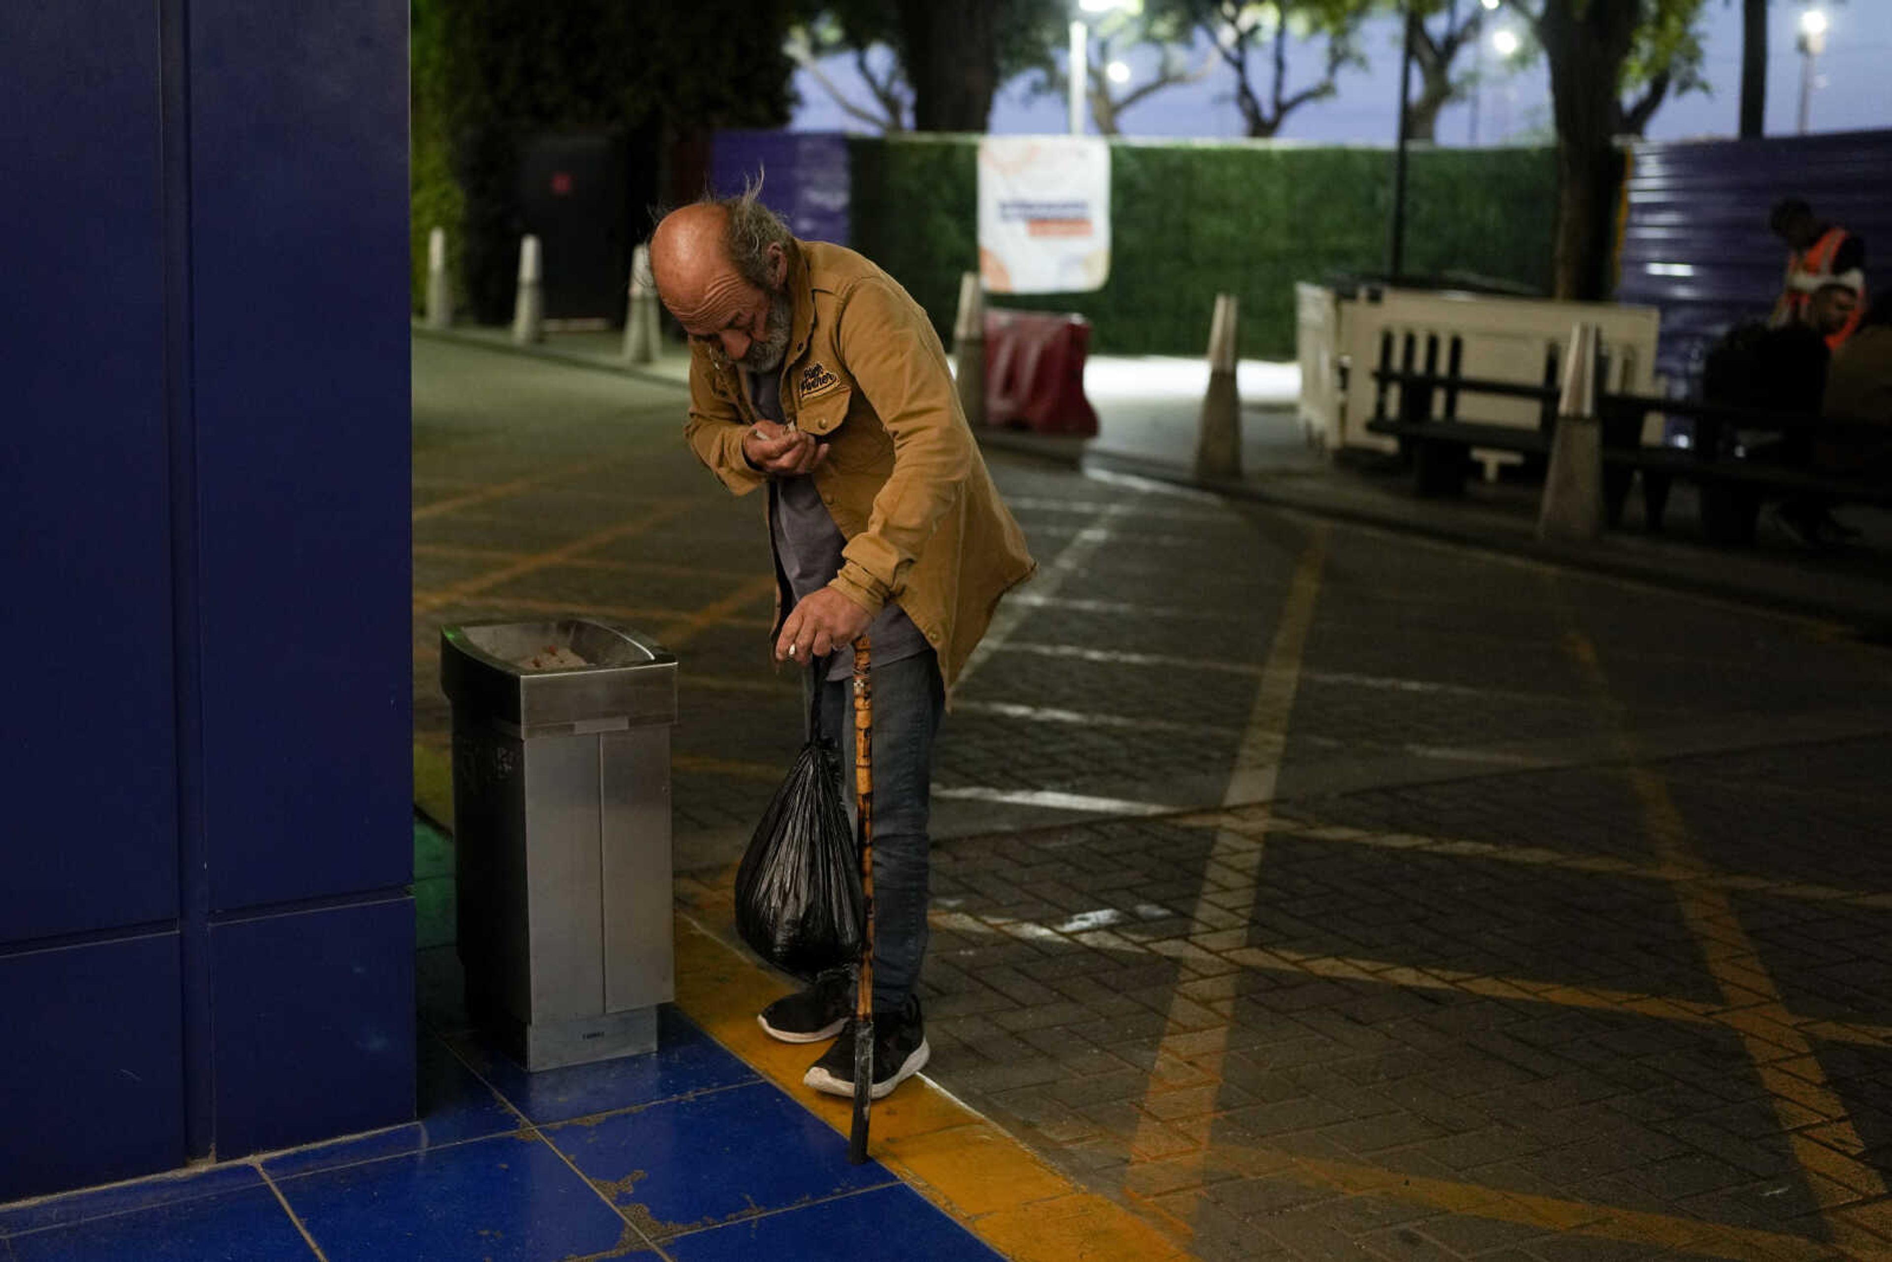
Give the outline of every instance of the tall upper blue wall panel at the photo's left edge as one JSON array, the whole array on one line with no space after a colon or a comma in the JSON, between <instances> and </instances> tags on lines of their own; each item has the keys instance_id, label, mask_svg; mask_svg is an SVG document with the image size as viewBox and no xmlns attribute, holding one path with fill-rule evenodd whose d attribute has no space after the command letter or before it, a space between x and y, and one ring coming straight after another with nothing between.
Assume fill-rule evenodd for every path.
<instances>
[{"instance_id":1,"label":"tall upper blue wall panel at the photo's left edge","mask_svg":"<svg viewBox=\"0 0 1892 1262\"><path fill-rule=\"evenodd\" d=\"M0 34L0 944L176 916L170 475L149 4Z\"/></svg>"}]
</instances>

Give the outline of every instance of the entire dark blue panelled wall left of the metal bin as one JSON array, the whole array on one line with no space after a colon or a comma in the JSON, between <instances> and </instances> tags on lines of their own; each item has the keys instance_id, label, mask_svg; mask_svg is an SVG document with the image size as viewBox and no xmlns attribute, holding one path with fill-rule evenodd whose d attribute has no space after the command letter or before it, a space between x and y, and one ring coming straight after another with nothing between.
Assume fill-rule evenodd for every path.
<instances>
[{"instance_id":1,"label":"entire dark blue panelled wall left of the metal bin","mask_svg":"<svg viewBox=\"0 0 1892 1262\"><path fill-rule=\"evenodd\" d=\"M407 4L0 8L0 1201L412 1114Z\"/></svg>"}]
</instances>

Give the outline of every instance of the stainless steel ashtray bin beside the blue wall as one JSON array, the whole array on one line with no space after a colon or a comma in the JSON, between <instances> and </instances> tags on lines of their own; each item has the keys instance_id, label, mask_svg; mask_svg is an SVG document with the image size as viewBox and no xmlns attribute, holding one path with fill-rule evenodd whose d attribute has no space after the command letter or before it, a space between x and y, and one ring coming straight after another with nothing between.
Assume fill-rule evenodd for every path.
<instances>
[{"instance_id":1,"label":"stainless steel ashtray bin beside the blue wall","mask_svg":"<svg viewBox=\"0 0 1892 1262\"><path fill-rule=\"evenodd\" d=\"M467 622L441 691L469 1016L526 1069L657 1048L677 660L590 619Z\"/></svg>"}]
</instances>

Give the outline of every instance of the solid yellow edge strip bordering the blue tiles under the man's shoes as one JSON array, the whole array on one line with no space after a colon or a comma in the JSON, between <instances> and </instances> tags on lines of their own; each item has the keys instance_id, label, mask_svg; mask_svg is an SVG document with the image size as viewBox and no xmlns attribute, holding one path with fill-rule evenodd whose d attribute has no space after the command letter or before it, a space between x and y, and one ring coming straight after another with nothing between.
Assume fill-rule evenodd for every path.
<instances>
[{"instance_id":1,"label":"solid yellow edge strip bordering the blue tiles under the man's shoes","mask_svg":"<svg viewBox=\"0 0 1892 1262\"><path fill-rule=\"evenodd\" d=\"M727 880L717 885L727 889ZM715 904L727 893L702 891ZM677 1008L840 1133L850 1101L802 1086L814 1046L776 1043L755 1014L787 993L774 973L677 916ZM874 1101L870 1152L902 1183L1016 1262L1182 1262L1154 1226L1086 1192L952 1094L916 1077Z\"/></svg>"}]
</instances>

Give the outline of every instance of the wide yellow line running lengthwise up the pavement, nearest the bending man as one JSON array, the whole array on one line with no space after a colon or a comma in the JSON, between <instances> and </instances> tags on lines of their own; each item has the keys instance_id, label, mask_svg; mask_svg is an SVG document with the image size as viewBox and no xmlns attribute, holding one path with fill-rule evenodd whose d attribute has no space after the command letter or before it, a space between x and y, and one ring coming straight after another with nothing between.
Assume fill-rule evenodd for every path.
<instances>
[{"instance_id":1,"label":"wide yellow line running lengthwise up the pavement, nearest the bending man","mask_svg":"<svg viewBox=\"0 0 1892 1262\"><path fill-rule=\"evenodd\" d=\"M1275 795L1281 766L1281 747L1294 711L1294 692L1300 687L1302 653L1313 626L1313 609L1321 598L1321 571L1326 568L1330 530L1317 524L1302 551L1294 575L1288 579L1287 600L1275 622L1273 643L1262 664L1254 708L1249 717L1235 766L1230 772L1228 802L1268 802ZM1260 882L1264 838L1217 831L1215 848L1203 867L1203 887L1192 910L1192 923L1218 918L1215 923L1247 925L1254 918ZM1105 931L1109 933L1109 931ZM1186 965L1184 965L1186 967ZM1181 1239L1194 1237L1194 1213L1201 1196L1209 1156L1207 1114L1175 1116L1165 1095L1190 1092L1192 1101L1213 1099L1222 1082L1228 1056L1228 1029L1234 1005L1220 1012L1205 1008L1179 984L1169 999L1164 1037L1156 1044L1156 1065L1145 1086L1137 1111L1137 1130L1130 1141L1130 1167L1124 1171L1124 1194L1131 1203L1148 1205L1160 1213ZM1150 1166L1164 1162L1158 1205Z\"/></svg>"}]
</instances>

